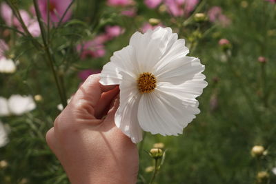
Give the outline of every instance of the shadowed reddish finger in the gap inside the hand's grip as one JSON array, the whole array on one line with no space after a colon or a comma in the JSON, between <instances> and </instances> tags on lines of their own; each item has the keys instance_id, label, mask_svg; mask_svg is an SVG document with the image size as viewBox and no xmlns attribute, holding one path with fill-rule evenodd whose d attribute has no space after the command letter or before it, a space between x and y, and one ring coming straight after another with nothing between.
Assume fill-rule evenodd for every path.
<instances>
[{"instance_id":1,"label":"shadowed reddish finger in the gap inside the hand's grip","mask_svg":"<svg viewBox=\"0 0 276 184\"><path fill-rule=\"evenodd\" d=\"M110 103L114 101L115 96L119 93L119 88L116 87L108 92L101 94L101 99L97 103L97 108L95 108L95 117L101 119L108 110L110 110ZM113 105L113 104L112 104Z\"/></svg>"}]
</instances>

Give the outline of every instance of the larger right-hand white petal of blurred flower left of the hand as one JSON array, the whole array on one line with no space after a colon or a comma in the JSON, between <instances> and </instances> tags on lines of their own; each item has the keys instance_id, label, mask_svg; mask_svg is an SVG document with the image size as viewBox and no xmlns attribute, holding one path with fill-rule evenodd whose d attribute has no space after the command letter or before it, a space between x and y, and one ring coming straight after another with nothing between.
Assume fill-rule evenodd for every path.
<instances>
[{"instance_id":1,"label":"larger right-hand white petal of blurred flower left of the hand","mask_svg":"<svg viewBox=\"0 0 276 184\"><path fill-rule=\"evenodd\" d=\"M36 108L32 96L21 96L14 94L8 99L10 112L15 115L21 115Z\"/></svg>"}]
</instances>

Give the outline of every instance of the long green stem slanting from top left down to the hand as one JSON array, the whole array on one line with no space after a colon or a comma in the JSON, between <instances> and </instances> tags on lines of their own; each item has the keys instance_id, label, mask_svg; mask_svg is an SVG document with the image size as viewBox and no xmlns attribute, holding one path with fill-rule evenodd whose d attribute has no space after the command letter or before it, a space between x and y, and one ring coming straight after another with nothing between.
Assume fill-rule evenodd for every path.
<instances>
[{"instance_id":1,"label":"long green stem slanting from top left down to the hand","mask_svg":"<svg viewBox=\"0 0 276 184\"><path fill-rule=\"evenodd\" d=\"M61 88L59 79L57 77L57 72L55 71L54 59L52 58L52 56L50 54L50 48L49 48L48 43L46 41L46 32L45 32L45 30L43 28L43 25L42 25L42 22L41 22L41 14L40 14L40 11L39 11L39 6L37 4L37 0L33 0L33 3L34 3L35 12L37 14L37 21L39 22L39 28L41 30L41 37L42 37L43 44L44 44L44 50L46 51L46 57L48 59L49 65L50 65L50 69L52 70L52 74L54 75L54 78L55 78L55 83L57 85L57 90L59 92L61 103L63 105L63 108L65 108L66 105L67 105L66 93Z\"/></svg>"}]
</instances>

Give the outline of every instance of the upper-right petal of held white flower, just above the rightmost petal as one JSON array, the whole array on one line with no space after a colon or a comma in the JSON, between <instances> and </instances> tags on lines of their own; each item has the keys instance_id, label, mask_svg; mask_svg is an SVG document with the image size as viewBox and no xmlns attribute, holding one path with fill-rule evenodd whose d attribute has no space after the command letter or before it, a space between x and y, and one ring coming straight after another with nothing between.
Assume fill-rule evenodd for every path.
<instances>
[{"instance_id":1,"label":"upper-right petal of held white flower, just above the rightmost petal","mask_svg":"<svg viewBox=\"0 0 276 184\"><path fill-rule=\"evenodd\" d=\"M204 65L195 57L181 57L158 71L157 79L159 82L181 84L185 81L193 80L195 74L203 72ZM202 76L204 76L202 74ZM205 77L204 77L205 79ZM202 80L204 80L202 79Z\"/></svg>"}]
</instances>

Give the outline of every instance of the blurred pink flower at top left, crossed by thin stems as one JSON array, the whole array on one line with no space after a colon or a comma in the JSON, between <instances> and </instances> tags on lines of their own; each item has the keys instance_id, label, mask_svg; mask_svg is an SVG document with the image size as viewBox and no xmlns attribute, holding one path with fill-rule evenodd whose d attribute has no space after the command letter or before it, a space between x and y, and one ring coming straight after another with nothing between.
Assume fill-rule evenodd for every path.
<instances>
[{"instance_id":1,"label":"blurred pink flower at top left, crossed by thin stems","mask_svg":"<svg viewBox=\"0 0 276 184\"><path fill-rule=\"evenodd\" d=\"M59 22L66 9L70 5L72 0L50 0L49 11L50 11L50 21ZM42 19L47 22L47 0L39 0L39 10L41 11ZM63 22L68 21L72 15L72 10L68 10L63 18Z\"/></svg>"}]
</instances>

